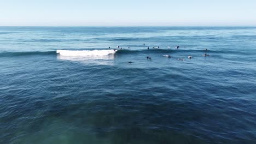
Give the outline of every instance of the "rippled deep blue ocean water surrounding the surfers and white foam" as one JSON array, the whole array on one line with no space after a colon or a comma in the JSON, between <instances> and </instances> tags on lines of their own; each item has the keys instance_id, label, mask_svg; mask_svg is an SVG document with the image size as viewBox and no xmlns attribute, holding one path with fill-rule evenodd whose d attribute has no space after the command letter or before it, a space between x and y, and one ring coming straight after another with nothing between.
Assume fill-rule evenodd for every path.
<instances>
[{"instance_id":1,"label":"rippled deep blue ocean water surrounding the surfers and white foam","mask_svg":"<svg viewBox=\"0 0 256 144\"><path fill-rule=\"evenodd\" d=\"M0 27L0 143L256 143L255 56L256 27Z\"/></svg>"}]
</instances>

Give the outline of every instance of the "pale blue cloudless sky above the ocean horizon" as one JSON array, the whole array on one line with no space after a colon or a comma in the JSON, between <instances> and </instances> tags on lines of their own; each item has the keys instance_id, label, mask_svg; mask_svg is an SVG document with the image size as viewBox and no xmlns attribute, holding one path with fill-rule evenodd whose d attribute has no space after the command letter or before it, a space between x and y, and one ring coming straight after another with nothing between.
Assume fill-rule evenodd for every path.
<instances>
[{"instance_id":1,"label":"pale blue cloudless sky above the ocean horizon","mask_svg":"<svg viewBox=\"0 0 256 144\"><path fill-rule=\"evenodd\" d=\"M256 26L256 0L0 0L0 26Z\"/></svg>"}]
</instances>

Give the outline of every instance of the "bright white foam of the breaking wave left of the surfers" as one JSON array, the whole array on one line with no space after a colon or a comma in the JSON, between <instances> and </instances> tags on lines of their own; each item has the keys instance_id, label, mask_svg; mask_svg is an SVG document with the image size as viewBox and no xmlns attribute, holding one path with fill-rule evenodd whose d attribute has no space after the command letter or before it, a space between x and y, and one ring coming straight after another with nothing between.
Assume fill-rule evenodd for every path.
<instances>
[{"instance_id":1,"label":"bright white foam of the breaking wave left of the surfers","mask_svg":"<svg viewBox=\"0 0 256 144\"><path fill-rule=\"evenodd\" d=\"M57 50L62 56L107 56L109 54L114 54L117 50Z\"/></svg>"}]
</instances>

